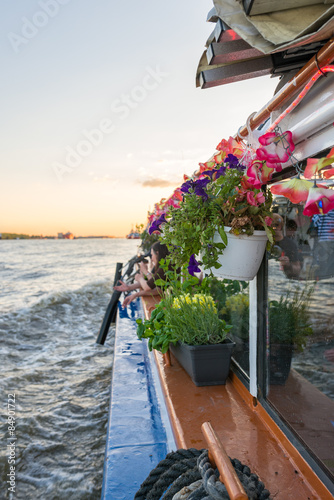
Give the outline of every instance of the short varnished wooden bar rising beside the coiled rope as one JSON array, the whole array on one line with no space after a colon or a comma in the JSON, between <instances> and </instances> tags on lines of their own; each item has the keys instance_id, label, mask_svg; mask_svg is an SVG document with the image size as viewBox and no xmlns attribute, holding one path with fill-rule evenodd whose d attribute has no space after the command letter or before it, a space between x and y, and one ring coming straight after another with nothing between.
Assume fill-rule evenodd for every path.
<instances>
[{"instance_id":1,"label":"short varnished wooden bar rising beside the coiled rope","mask_svg":"<svg viewBox=\"0 0 334 500\"><path fill-rule=\"evenodd\" d=\"M231 500L248 500L237 473L229 459L221 441L213 430L210 422L201 426L203 436L209 449L209 460L219 470L219 479L224 483Z\"/></svg>"}]
</instances>

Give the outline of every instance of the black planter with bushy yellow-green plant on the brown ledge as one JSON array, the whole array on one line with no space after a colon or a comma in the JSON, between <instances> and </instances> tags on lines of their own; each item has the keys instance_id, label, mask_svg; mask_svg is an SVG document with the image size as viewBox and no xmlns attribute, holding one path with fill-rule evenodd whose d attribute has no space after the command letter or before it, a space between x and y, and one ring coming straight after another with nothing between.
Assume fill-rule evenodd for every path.
<instances>
[{"instance_id":1,"label":"black planter with bushy yellow-green plant on the brown ledge","mask_svg":"<svg viewBox=\"0 0 334 500\"><path fill-rule=\"evenodd\" d=\"M148 338L149 349L170 347L196 385L225 384L235 345L227 338L231 326L201 286L192 277L172 286L149 320L137 320L137 335Z\"/></svg>"}]
</instances>

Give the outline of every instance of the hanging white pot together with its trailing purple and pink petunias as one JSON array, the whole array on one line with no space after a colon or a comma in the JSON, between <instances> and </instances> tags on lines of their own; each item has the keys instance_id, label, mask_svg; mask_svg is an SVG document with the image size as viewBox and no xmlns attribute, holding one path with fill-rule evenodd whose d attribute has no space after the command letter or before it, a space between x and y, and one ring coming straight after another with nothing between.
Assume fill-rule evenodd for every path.
<instances>
[{"instance_id":1,"label":"hanging white pot together with its trailing purple and pink petunias","mask_svg":"<svg viewBox=\"0 0 334 500\"><path fill-rule=\"evenodd\" d=\"M196 258L219 277L250 280L268 240L273 243L271 193L262 191L262 181L255 182L250 167L246 173L234 154L216 155L215 161L212 168L203 167L196 180L187 179L181 186L183 200L162 220L161 239L180 265ZM258 162L260 167L263 162ZM244 253L239 253L240 243L246 243Z\"/></svg>"}]
</instances>

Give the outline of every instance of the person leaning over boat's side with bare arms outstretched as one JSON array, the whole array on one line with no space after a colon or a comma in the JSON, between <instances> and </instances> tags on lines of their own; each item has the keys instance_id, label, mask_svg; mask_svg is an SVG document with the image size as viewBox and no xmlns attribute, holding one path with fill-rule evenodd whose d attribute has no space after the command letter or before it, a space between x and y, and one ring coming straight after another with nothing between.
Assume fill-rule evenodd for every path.
<instances>
[{"instance_id":1,"label":"person leaning over boat's side with bare arms outstretched","mask_svg":"<svg viewBox=\"0 0 334 500\"><path fill-rule=\"evenodd\" d=\"M149 271L148 265L145 262L139 263L139 272L135 275L135 281L128 285L124 281L120 281L120 285L116 285L114 290L118 292L130 292L132 290L138 290L131 295L125 297L122 307L126 307L137 297L143 297L147 295L161 295L161 290L155 285L156 280L165 279L165 273L161 267L159 267L159 262L161 259L165 259L169 255L167 245L156 241L151 247L151 265L152 269Z\"/></svg>"}]
</instances>

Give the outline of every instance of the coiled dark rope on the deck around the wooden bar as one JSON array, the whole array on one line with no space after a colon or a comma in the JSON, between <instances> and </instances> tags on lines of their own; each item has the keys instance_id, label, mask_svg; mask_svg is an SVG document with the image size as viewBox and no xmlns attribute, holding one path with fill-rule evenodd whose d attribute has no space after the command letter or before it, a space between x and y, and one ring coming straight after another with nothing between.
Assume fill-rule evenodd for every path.
<instances>
[{"instance_id":1,"label":"coiled dark rope on the deck around the wooden bar","mask_svg":"<svg viewBox=\"0 0 334 500\"><path fill-rule=\"evenodd\" d=\"M236 458L230 460L249 500L270 500L270 493L259 477ZM150 472L134 500L173 500L174 496L187 500L229 500L207 450L190 448L169 453Z\"/></svg>"}]
</instances>

